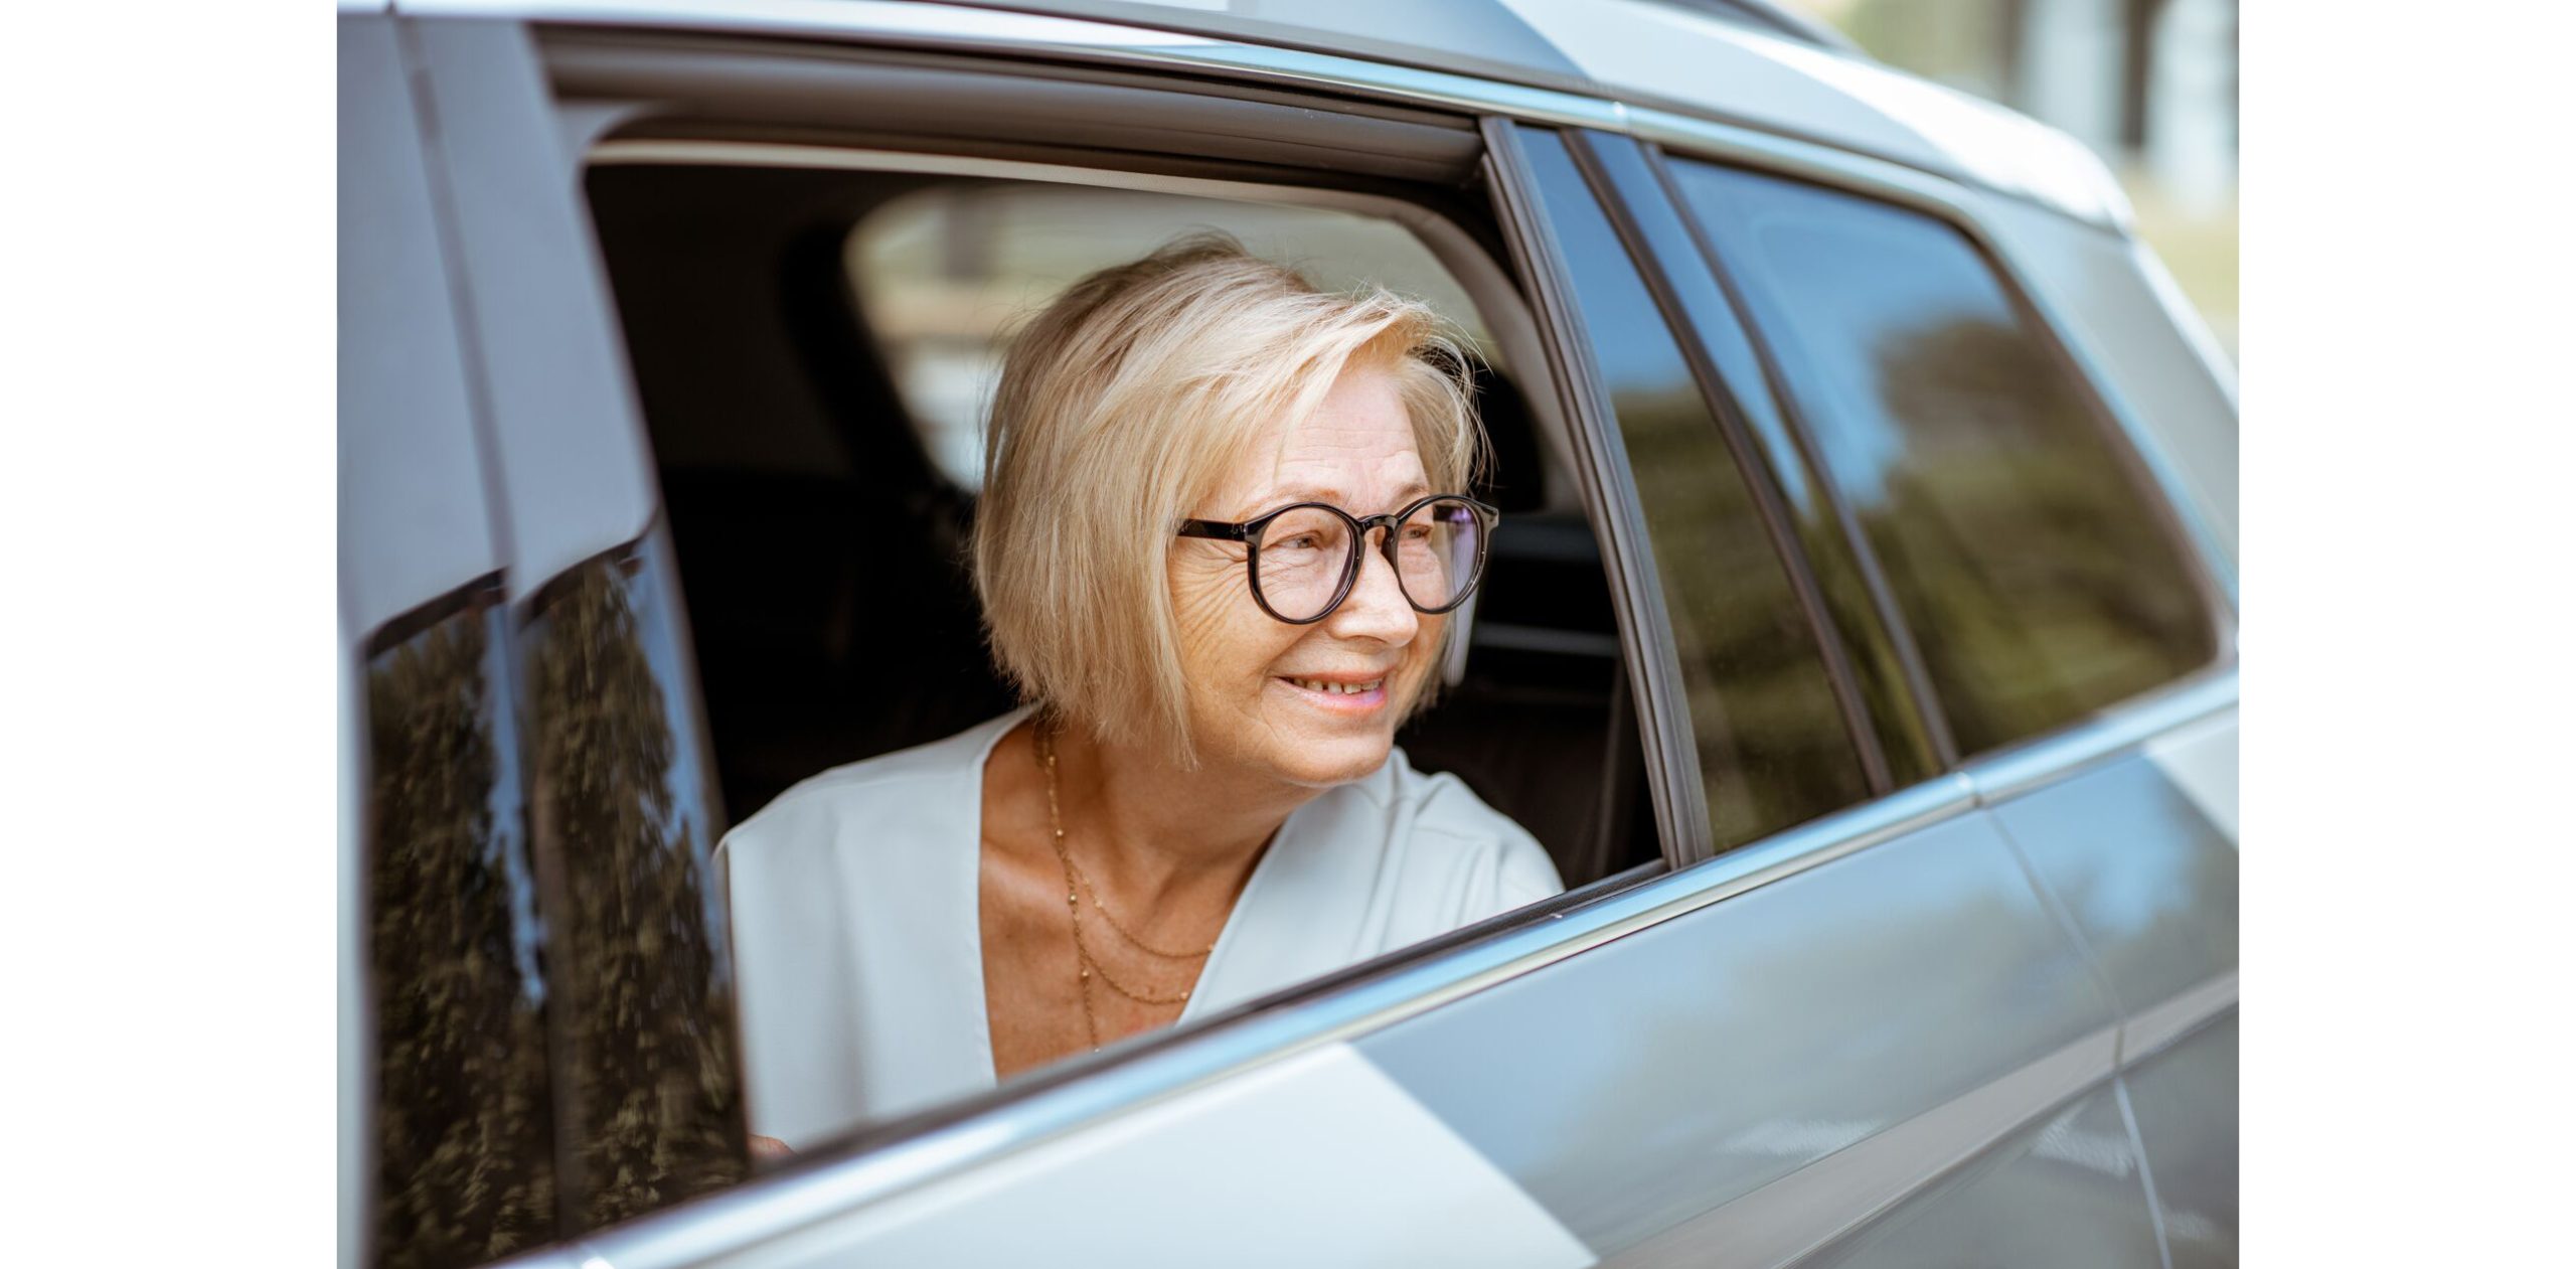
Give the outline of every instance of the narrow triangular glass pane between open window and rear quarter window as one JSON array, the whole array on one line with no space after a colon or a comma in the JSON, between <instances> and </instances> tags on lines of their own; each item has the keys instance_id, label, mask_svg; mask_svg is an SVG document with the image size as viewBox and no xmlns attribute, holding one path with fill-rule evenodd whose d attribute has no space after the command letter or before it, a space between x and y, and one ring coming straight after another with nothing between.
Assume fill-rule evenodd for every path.
<instances>
[{"instance_id":1,"label":"narrow triangular glass pane between open window and rear quarter window","mask_svg":"<svg viewBox=\"0 0 2576 1269\"><path fill-rule=\"evenodd\" d=\"M1522 136L1636 471L1718 849L1865 798L1816 633L1682 347L1564 139Z\"/></svg>"}]
</instances>

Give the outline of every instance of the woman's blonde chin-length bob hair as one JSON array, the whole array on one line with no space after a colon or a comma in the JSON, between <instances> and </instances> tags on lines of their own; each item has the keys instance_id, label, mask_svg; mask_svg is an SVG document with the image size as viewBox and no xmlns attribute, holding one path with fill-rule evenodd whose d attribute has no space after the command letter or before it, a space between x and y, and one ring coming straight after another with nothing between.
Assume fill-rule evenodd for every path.
<instances>
[{"instance_id":1,"label":"woman's blonde chin-length bob hair","mask_svg":"<svg viewBox=\"0 0 2576 1269\"><path fill-rule=\"evenodd\" d=\"M1463 489L1486 443L1453 329L1383 288L1319 291L1224 234L1056 296L1002 363L974 525L984 631L1020 698L1195 764L1167 574L1180 520L1347 368L1394 373L1432 489Z\"/></svg>"}]
</instances>

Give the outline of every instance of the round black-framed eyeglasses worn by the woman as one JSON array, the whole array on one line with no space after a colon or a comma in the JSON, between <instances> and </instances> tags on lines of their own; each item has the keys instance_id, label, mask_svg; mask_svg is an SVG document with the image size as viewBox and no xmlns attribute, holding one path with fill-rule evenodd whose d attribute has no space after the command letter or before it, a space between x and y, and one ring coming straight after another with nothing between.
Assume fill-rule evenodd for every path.
<instances>
[{"instance_id":1,"label":"round black-framed eyeglasses worn by the woman","mask_svg":"<svg viewBox=\"0 0 2576 1269\"><path fill-rule=\"evenodd\" d=\"M1396 589L1419 613L1448 613L1476 592L1484 548L1502 512L1463 494L1430 494L1391 515L1355 517L1329 502L1296 502L1252 520L1182 520L1182 538L1244 543L1252 602L1288 625L1311 625L1342 607L1360 582L1360 546L1383 528L1378 553Z\"/></svg>"}]
</instances>

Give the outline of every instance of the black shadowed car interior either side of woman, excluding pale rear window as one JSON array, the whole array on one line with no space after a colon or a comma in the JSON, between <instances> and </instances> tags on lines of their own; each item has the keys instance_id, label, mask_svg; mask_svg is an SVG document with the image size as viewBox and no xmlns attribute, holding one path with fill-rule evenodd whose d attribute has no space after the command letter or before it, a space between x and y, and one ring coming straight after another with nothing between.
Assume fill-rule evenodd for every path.
<instances>
[{"instance_id":1,"label":"black shadowed car interior either side of woman, excluding pale rear window","mask_svg":"<svg viewBox=\"0 0 2576 1269\"><path fill-rule=\"evenodd\" d=\"M814 772L1015 703L963 569L974 492L907 420L848 273L871 211L961 180L590 167L732 821ZM1494 443L1481 497L1502 530L1463 677L1399 744L1528 826L1582 885L1659 857L1610 587L1584 515L1548 510L1520 389L1494 371L1479 384Z\"/></svg>"}]
</instances>

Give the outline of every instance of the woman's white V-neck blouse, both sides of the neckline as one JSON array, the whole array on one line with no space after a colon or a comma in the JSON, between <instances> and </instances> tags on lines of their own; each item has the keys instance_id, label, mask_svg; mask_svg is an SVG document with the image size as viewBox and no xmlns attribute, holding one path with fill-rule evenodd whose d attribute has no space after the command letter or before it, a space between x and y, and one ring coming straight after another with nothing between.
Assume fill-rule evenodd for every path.
<instances>
[{"instance_id":1,"label":"woman's white V-neck blouse, both sides of the neckline","mask_svg":"<svg viewBox=\"0 0 2576 1269\"><path fill-rule=\"evenodd\" d=\"M832 767L716 847L752 1133L806 1148L994 1086L984 759L1025 716ZM1535 837L1396 749L1288 816L1180 1022L1561 888Z\"/></svg>"}]
</instances>

